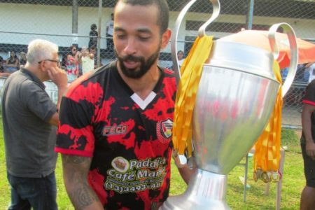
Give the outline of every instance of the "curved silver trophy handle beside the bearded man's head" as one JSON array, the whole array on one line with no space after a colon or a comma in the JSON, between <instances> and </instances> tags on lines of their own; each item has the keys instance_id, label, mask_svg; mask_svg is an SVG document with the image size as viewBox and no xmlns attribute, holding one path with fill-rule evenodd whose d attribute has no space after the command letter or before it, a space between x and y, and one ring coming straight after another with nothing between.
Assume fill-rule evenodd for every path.
<instances>
[{"instance_id":1,"label":"curved silver trophy handle beside the bearded man's head","mask_svg":"<svg viewBox=\"0 0 315 210\"><path fill-rule=\"evenodd\" d=\"M181 13L179 13L179 17L176 19L173 33L171 37L171 54L172 54L172 62L173 62L173 69L176 76L176 84L179 85L179 80L181 79L181 72L179 71L179 59L177 58L177 36L179 35L179 27L181 26L181 22L183 21L183 18L185 17L186 13L188 12L190 6L192 6L197 0L191 0L189 3L186 4L186 6L181 10ZM200 29L198 30L198 35L200 37L204 36L205 30L207 26L213 22L220 13L220 3L218 0L210 0L210 2L213 5L214 12L211 15L211 18L205 22Z\"/></svg>"}]
</instances>

